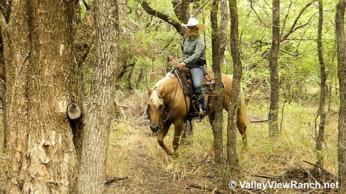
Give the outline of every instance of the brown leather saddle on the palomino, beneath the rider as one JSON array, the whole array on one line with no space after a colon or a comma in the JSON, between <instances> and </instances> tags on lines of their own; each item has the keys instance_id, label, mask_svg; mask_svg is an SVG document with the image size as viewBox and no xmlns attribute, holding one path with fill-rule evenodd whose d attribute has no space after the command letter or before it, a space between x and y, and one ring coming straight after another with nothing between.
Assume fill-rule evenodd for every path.
<instances>
[{"instance_id":1,"label":"brown leather saddle on the palomino, beneath the rider","mask_svg":"<svg viewBox=\"0 0 346 194\"><path fill-rule=\"evenodd\" d=\"M192 119L200 117L201 105L199 104L199 101L196 100L196 97L194 96L190 70L184 67L182 70L175 69L174 73L179 79L179 83L181 84L183 88L185 96L190 96L191 106L190 106L190 111L186 119L188 119L189 121L192 121ZM215 96L214 95L214 91L215 91L214 72L208 72L208 71L204 72L203 81L201 85L204 89L204 93L208 95L208 97L206 97L206 107L207 107L207 115L208 115L210 106L211 106L212 97Z\"/></svg>"}]
</instances>

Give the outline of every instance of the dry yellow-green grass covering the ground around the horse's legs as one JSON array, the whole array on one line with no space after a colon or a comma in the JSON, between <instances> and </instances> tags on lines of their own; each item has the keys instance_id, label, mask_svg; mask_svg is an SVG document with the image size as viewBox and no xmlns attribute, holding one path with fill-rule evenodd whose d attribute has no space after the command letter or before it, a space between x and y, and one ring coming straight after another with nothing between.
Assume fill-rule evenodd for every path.
<instances>
[{"instance_id":1,"label":"dry yellow-green grass covering the ground around the horse's legs","mask_svg":"<svg viewBox=\"0 0 346 194\"><path fill-rule=\"evenodd\" d=\"M156 137L150 133L149 122L145 116L146 99L146 93L120 94L120 104L127 107L124 109L126 117L120 118L114 123L109 137L107 177L111 182L107 184L107 193L210 193L215 188L217 188L216 193L319 192L299 189L289 191L284 189L266 189L266 191L230 189L228 187L228 183L231 181L228 176L229 166L214 164L212 160L204 161L212 140L212 130L206 120L194 125L194 136L181 144L179 156L168 157L158 146ZM334 109L334 112L338 111L336 108ZM254 175L284 177L285 173L292 169L311 169L313 166L304 161L316 162L315 128L313 126L316 111L315 105L286 105L281 135L275 138L268 138L266 122L254 123L248 133L249 144L246 153L241 151L242 142L238 134L239 164L244 175L242 180L266 182L268 179ZM248 113L251 116L265 118L267 106L265 103L251 104L248 106ZM338 115L327 115L323 151L324 168L333 175L338 173L337 127ZM224 128L226 129L226 121ZM172 144L172 135L171 128L165 139L168 146ZM0 136L2 139L3 135ZM224 157L226 158L226 130L224 139ZM4 154L0 153L0 156L4 157ZM172 171L166 171L171 162ZM0 188L4 187L4 168L5 164L0 160ZM315 176L315 174L311 174ZM298 176L298 173L294 175Z\"/></svg>"}]
</instances>

